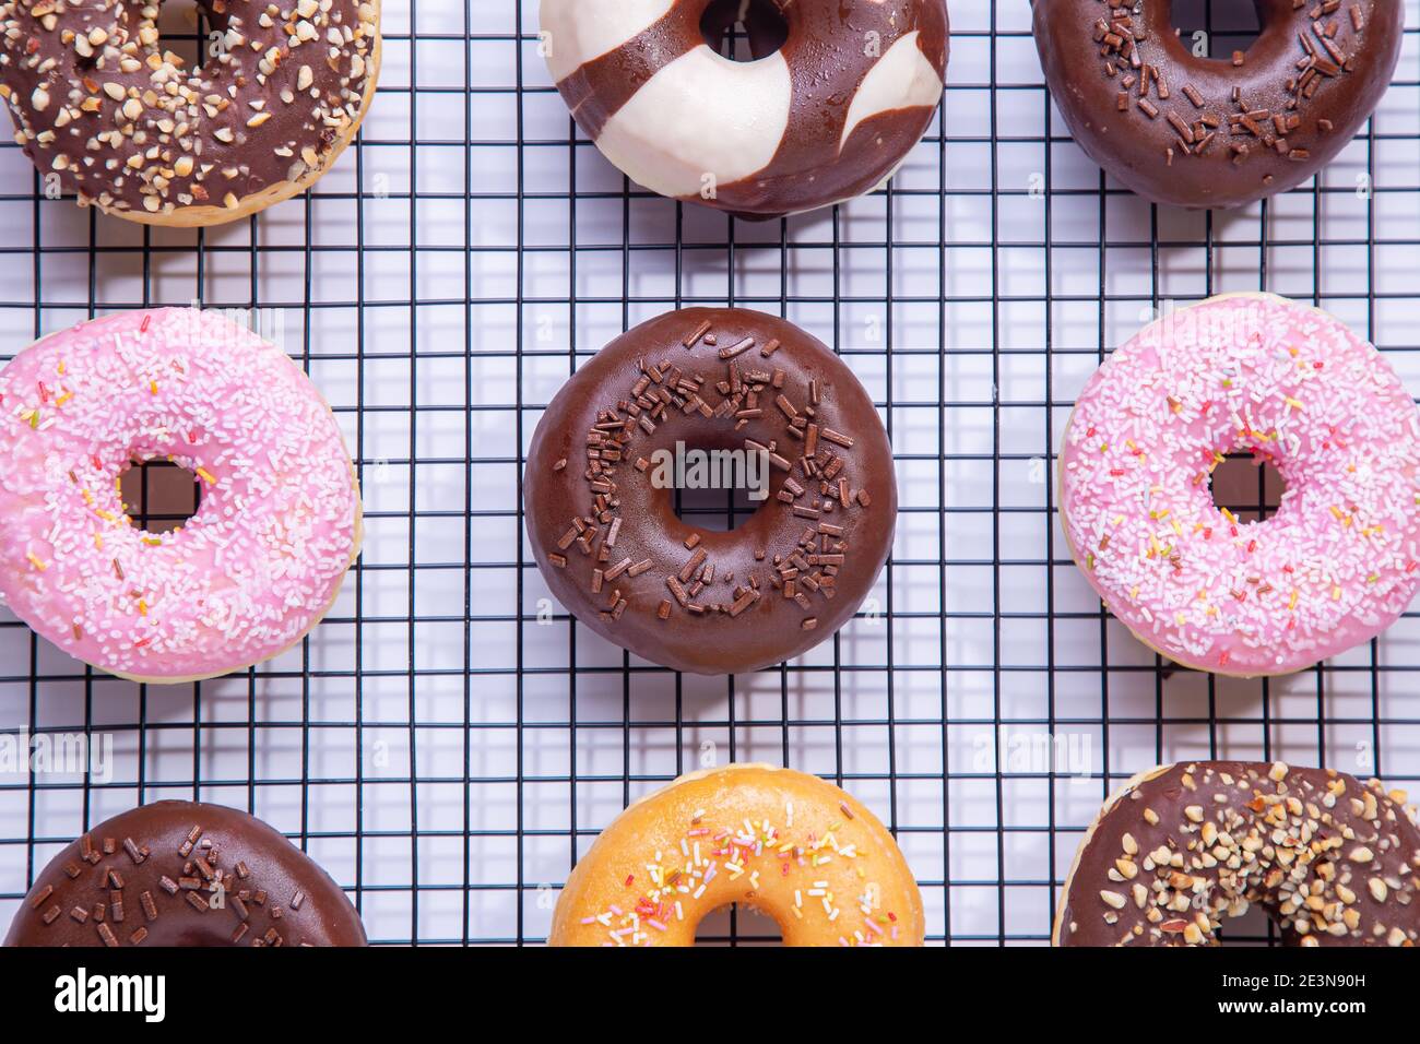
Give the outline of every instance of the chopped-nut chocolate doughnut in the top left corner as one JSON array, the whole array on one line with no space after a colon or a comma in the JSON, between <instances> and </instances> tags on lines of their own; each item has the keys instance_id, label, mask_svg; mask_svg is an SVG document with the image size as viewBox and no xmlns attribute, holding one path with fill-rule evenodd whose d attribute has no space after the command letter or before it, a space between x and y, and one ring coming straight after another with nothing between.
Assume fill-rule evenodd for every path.
<instances>
[{"instance_id":1,"label":"chopped-nut chocolate doughnut in the top left corner","mask_svg":"<svg viewBox=\"0 0 1420 1044\"><path fill-rule=\"evenodd\" d=\"M159 7L0 0L0 97L43 178L116 217L222 224L304 192L355 138L379 0L197 0L197 68L163 45Z\"/></svg>"}]
</instances>

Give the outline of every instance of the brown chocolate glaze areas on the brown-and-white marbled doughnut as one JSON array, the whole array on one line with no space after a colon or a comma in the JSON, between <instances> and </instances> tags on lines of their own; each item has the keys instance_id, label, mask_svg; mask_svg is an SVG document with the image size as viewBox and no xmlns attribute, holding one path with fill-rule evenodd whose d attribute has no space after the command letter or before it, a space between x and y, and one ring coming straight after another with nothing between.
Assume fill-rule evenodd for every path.
<instances>
[{"instance_id":1,"label":"brown chocolate glaze areas on the brown-and-white marbled doughnut","mask_svg":"<svg viewBox=\"0 0 1420 1044\"><path fill-rule=\"evenodd\" d=\"M713 0L677 0L659 21L613 51L585 62L557 87L594 141L606 121L662 67L706 43L701 18ZM790 122L778 152L763 170L717 186L716 199L687 197L741 217L770 219L852 199L879 186L926 134L936 107L882 112L839 142L848 109L876 58L863 51L869 33L879 53L917 31L917 47L946 77L946 0L774 0L788 36L782 48L792 82ZM728 28L733 10L711 30ZM720 11L713 11L720 13ZM716 36L711 31L711 36ZM750 26L754 58L774 53L775 34Z\"/></svg>"}]
</instances>

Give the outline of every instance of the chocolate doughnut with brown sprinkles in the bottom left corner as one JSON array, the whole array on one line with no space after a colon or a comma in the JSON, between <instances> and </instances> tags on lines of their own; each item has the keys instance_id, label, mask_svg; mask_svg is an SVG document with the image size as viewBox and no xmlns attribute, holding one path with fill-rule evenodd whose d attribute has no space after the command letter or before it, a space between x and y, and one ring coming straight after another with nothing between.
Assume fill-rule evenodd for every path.
<instances>
[{"instance_id":1,"label":"chocolate doughnut with brown sprinkles in the bottom left corner","mask_svg":"<svg viewBox=\"0 0 1420 1044\"><path fill-rule=\"evenodd\" d=\"M54 857L6 946L365 946L341 886L246 812L156 801Z\"/></svg>"}]
</instances>

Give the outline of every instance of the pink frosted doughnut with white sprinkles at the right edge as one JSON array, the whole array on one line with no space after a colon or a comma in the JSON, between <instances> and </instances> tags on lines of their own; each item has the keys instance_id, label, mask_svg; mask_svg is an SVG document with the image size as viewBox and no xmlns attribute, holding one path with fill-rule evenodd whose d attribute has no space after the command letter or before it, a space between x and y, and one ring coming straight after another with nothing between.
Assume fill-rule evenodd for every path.
<instances>
[{"instance_id":1,"label":"pink frosted doughnut with white sprinkles at the right edge","mask_svg":"<svg viewBox=\"0 0 1420 1044\"><path fill-rule=\"evenodd\" d=\"M1287 483L1244 523L1208 474L1234 450ZM1061 453L1075 561L1169 659L1301 670L1390 626L1420 585L1420 410L1380 352L1315 308L1216 297L1119 348Z\"/></svg>"}]
</instances>

